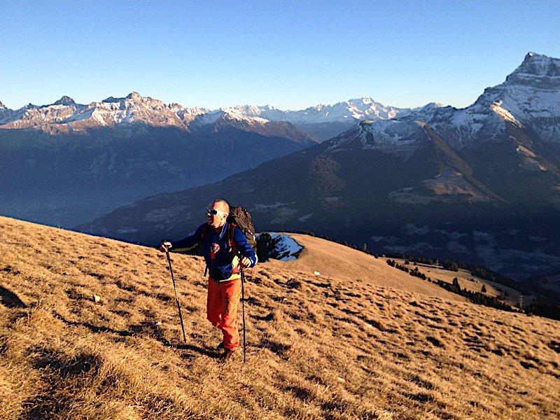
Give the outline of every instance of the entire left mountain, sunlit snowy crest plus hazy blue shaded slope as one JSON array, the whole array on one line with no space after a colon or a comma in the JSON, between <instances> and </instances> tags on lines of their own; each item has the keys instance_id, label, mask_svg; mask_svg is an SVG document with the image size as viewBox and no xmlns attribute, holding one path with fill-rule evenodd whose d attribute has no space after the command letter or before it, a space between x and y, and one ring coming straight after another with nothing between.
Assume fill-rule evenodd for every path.
<instances>
[{"instance_id":1,"label":"entire left mountain, sunlit snowy crest plus hazy blue shaded slope","mask_svg":"<svg viewBox=\"0 0 560 420\"><path fill-rule=\"evenodd\" d=\"M163 191L217 181L316 144L284 121L132 92L0 109L0 213L72 226ZM235 157L235 158L234 158Z\"/></svg>"}]
</instances>

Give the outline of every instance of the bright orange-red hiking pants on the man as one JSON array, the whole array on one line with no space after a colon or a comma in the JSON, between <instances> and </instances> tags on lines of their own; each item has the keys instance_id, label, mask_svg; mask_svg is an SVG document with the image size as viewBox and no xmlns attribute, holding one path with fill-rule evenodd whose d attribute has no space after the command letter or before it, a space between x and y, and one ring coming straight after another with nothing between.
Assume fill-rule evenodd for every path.
<instances>
[{"instance_id":1,"label":"bright orange-red hiking pants on the man","mask_svg":"<svg viewBox=\"0 0 560 420\"><path fill-rule=\"evenodd\" d=\"M241 279L218 283L208 279L207 318L223 333L224 349L235 351L239 347L237 307L241 297Z\"/></svg>"}]
</instances>

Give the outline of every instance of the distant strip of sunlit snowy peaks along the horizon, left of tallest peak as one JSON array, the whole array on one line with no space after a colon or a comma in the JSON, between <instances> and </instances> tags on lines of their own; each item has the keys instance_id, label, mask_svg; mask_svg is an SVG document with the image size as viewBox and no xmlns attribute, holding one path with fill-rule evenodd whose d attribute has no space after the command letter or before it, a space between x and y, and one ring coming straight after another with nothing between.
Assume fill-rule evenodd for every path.
<instances>
[{"instance_id":1,"label":"distant strip of sunlit snowy peaks along the horizon, left of tallest peak","mask_svg":"<svg viewBox=\"0 0 560 420\"><path fill-rule=\"evenodd\" d=\"M430 104L440 106L440 104ZM50 134L84 132L92 127L117 127L131 123L146 123L154 127L178 127L196 131L218 118L237 120L245 125L269 122L290 123L318 141L325 141L346 131L361 120L388 120L419 109L397 108L362 97L318 104L299 111L283 111L274 106L233 106L221 109L188 108L180 104L166 104L159 99L142 97L132 92L127 97L109 97L101 102L76 104L64 95L53 104L28 104L20 109L8 109L0 102L0 127L3 129L35 128Z\"/></svg>"}]
</instances>

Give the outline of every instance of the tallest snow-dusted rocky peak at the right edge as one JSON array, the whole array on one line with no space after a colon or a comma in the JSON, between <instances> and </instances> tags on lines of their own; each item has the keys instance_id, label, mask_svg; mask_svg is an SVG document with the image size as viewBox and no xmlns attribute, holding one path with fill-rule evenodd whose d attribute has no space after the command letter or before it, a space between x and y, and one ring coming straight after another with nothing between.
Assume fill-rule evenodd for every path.
<instances>
[{"instance_id":1,"label":"tallest snow-dusted rocky peak at the right edge","mask_svg":"<svg viewBox=\"0 0 560 420\"><path fill-rule=\"evenodd\" d=\"M470 106L422 109L405 119L412 117L428 123L456 148L503 138L507 135L503 122L531 127L542 140L557 142L560 59L529 52L503 83L486 87Z\"/></svg>"}]
</instances>

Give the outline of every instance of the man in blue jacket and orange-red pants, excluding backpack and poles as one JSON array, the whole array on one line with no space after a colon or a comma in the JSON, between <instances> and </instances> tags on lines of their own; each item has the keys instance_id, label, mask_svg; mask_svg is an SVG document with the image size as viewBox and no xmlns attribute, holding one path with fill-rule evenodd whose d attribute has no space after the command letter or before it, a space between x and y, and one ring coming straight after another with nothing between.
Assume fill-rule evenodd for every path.
<instances>
[{"instance_id":1,"label":"man in blue jacket and orange-red pants, excluding backpack and poles","mask_svg":"<svg viewBox=\"0 0 560 420\"><path fill-rule=\"evenodd\" d=\"M202 243L208 277L207 318L223 333L223 357L230 358L239 347L237 307L241 297L241 268L254 267L255 251L235 227L228 215L230 205L225 200L214 200L206 210L207 223L200 225L193 235L179 241L162 241L160 251L169 248L189 248Z\"/></svg>"}]
</instances>

